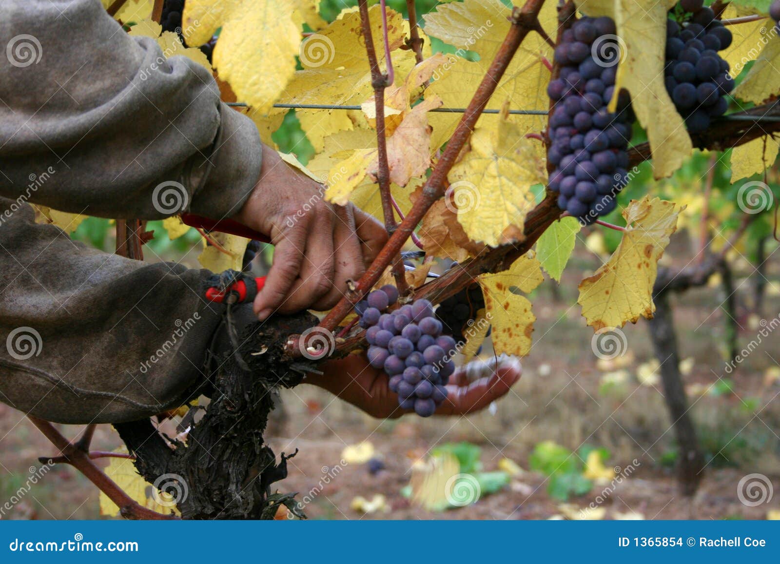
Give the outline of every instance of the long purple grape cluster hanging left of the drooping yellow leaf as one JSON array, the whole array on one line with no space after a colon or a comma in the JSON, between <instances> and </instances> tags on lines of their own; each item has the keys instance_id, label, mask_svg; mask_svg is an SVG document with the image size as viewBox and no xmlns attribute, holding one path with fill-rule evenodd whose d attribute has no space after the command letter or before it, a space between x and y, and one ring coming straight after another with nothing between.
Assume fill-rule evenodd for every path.
<instances>
[{"instance_id":1,"label":"long purple grape cluster hanging left of the drooping yellow leaf","mask_svg":"<svg viewBox=\"0 0 780 564\"><path fill-rule=\"evenodd\" d=\"M560 74L547 89L555 101L547 153L555 170L548 188L558 194L558 208L583 225L614 210L627 182L634 116L626 90L619 93L617 112L607 110L620 50L608 17L577 20L555 48Z\"/></svg>"}]
</instances>

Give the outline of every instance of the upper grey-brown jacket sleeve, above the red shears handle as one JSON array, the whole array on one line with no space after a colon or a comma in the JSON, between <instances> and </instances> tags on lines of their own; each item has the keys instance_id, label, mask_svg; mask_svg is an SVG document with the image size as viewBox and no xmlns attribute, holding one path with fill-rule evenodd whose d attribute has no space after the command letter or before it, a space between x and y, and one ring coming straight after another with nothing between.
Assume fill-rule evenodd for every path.
<instances>
[{"instance_id":1,"label":"upper grey-brown jacket sleeve, above the red shears handle","mask_svg":"<svg viewBox=\"0 0 780 564\"><path fill-rule=\"evenodd\" d=\"M0 40L0 196L110 218L239 211L262 144L203 66L100 0L3 0Z\"/></svg>"}]
</instances>

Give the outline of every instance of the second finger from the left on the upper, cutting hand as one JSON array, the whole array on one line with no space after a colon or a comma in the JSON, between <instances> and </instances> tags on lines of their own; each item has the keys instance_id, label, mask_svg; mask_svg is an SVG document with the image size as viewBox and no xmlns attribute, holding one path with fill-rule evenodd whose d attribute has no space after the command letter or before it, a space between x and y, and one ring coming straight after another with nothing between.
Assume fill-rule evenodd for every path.
<instances>
[{"instance_id":1,"label":"second finger from the left on the upper, cutting hand","mask_svg":"<svg viewBox=\"0 0 780 564\"><path fill-rule=\"evenodd\" d=\"M282 302L279 311L291 314L300 310L328 309L324 300L333 289L334 260L333 231L335 216L329 208L320 211L310 223L306 250L298 280Z\"/></svg>"}]
</instances>

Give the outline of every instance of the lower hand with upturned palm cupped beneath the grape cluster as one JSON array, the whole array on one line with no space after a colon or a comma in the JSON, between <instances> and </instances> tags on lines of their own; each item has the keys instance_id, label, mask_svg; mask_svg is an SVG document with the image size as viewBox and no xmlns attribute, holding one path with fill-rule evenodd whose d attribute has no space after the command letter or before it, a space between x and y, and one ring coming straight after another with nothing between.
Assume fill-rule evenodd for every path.
<instances>
[{"instance_id":1,"label":"lower hand with upturned palm cupped beneath the grape cluster","mask_svg":"<svg viewBox=\"0 0 780 564\"><path fill-rule=\"evenodd\" d=\"M324 374L310 374L304 382L328 390L359 407L372 417L396 419L411 410L402 410L398 396L388 387L388 375L368 364L364 354L350 354L321 364ZM523 368L513 356L498 360L472 360L449 378L447 399L434 415L465 415L483 410L505 396L520 379Z\"/></svg>"}]
</instances>

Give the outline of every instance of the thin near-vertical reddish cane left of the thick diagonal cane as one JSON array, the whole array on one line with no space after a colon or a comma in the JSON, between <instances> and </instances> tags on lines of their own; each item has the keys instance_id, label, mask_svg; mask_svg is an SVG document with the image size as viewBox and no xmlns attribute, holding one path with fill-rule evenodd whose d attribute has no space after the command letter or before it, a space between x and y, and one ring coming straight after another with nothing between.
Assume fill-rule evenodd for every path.
<instances>
[{"instance_id":1,"label":"thin near-vertical reddish cane left of the thick diagonal cane","mask_svg":"<svg viewBox=\"0 0 780 564\"><path fill-rule=\"evenodd\" d=\"M374 37L371 34L371 20L368 16L367 0L359 0L360 22L363 27L363 37L366 41L366 54L368 65L371 67L371 86L374 87L374 110L377 123L377 183L379 184L379 194L382 203L382 214L385 216L385 229L388 236L392 236L397 229L395 215L392 209L392 193L390 191L390 165L388 164L387 139L385 137L385 88L392 84L392 60L390 59L390 44L387 31L387 12L385 9L385 0L381 0L382 9L382 30L385 40L385 64L388 73L382 74L377 59L377 51L374 49ZM403 268L401 255L392 259L392 274L395 278L395 286L401 296L409 293L409 286L406 284L406 269ZM343 317L342 317L343 319ZM339 320L341 321L341 320ZM334 325L335 328L335 325ZM333 328L329 329L332 331Z\"/></svg>"}]
</instances>

